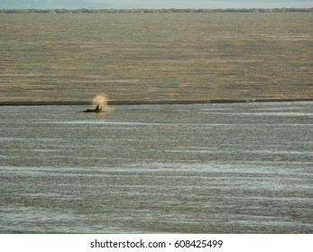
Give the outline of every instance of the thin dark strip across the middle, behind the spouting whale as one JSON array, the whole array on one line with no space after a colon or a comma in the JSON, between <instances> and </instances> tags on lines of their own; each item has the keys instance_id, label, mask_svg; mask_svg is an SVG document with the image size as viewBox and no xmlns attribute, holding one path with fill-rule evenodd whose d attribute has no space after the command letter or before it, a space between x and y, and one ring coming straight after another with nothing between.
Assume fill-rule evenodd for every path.
<instances>
[{"instance_id":1,"label":"thin dark strip across the middle, behind the spouting whale","mask_svg":"<svg viewBox=\"0 0 313 252\"><path fill-rule=\"evenodd\" d=\"M286 99L246 99L246 100L207 100L207 101L108 101L109 105L157 105L157 104L200 104L200 103L273 103L273 102L312 102L311 98ZM0 102L0 106L46 106L46 105L90 105L86 101L38 101Z\"/></svg>"}]
</instances>

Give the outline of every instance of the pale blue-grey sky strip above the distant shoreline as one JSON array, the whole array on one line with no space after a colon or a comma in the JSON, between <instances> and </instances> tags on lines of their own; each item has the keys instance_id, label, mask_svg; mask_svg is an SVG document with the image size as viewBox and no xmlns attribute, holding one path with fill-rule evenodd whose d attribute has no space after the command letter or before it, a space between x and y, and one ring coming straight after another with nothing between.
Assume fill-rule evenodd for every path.
<instances>
[{"instance_id":1,"label":"pale blue-grey sky strip above the distant shoreline","mask_svg":"<svg viewBox=\"0 0 313 252\"><path fill-rule=\"evenodd\" d=\"M0 0L0 9L281 8L313 7L313 0Z\"/></svg>"}]
</instances>

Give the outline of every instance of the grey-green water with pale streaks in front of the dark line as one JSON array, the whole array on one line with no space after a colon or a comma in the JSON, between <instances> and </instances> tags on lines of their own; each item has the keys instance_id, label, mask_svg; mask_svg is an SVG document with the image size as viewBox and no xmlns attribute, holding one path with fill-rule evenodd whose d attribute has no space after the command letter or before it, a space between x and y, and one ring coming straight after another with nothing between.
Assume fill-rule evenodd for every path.
<instances>
[{"instance_id":1,"label":"grey-green water with pale streaks in front of the dark line","mask_svg":"<svg viewBox=\"0 0 313 252\"><path fill-rule=\"evenodd\" d=\"M312 233L313 103L0 109L1 233Z\"/></svg>"}]
</instances>

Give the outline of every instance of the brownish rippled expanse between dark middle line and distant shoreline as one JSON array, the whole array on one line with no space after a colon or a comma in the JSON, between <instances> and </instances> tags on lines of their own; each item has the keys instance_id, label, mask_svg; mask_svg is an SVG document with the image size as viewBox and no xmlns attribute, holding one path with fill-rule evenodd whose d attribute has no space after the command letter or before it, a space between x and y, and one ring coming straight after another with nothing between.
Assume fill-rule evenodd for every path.
<instances>
[{"instance_id":1,"label":"brownish rippled expanse between dark middle line and distant shoreline","mask_svg":"<svg viewBox=\"0 0 313 252\"><path fill-rule=\"evenodd\" d=\"M0 102L313 98L311 13L0 21Z\"/></svg>"}]
</instances>

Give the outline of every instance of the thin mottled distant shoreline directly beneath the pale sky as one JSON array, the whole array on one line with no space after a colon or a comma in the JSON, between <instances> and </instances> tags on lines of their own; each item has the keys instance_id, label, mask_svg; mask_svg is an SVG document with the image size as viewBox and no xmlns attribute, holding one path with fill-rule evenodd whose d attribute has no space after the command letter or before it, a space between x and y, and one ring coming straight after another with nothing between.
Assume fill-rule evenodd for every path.
<instances>
[{"instance_id":1,"label":"thin mottled distant shoreline directly beneath the pale sky","mask_svg":"<svg viewBox=\"0 0 313 252\"><path fill-rule=\"evenodd\" d=\"M313 12L308 8L171 8L171 9L0 9L0 14L156 14L156 13L294 13Z\"/></svg>"}]
</instances>

